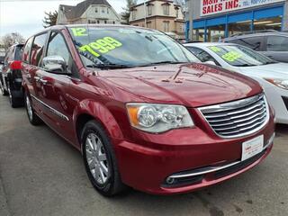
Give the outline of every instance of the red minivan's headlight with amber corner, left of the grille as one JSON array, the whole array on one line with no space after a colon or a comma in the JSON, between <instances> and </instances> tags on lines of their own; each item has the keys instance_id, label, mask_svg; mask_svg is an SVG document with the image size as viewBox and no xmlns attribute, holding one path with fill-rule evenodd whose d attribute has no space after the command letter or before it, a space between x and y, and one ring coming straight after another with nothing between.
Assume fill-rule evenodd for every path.
<instances>
[{"instance_id":1,"label":"red minivan's headlight with amber corner, left of the grille","mask_svg":"<svg viewBox=\"0 0 288 216\"><path fill-rule=\"evenodd\" d=\"M187 109L182 105L127 103L131 126L148 132L164 132L176 128L193 127Z\"/></svg>"}]
</instances>

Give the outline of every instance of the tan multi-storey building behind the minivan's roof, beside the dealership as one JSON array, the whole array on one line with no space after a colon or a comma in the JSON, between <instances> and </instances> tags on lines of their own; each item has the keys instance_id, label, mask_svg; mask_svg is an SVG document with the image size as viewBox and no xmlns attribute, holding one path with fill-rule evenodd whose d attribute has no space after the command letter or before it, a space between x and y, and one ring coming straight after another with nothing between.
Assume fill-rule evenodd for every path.
<instances>
[{"instance_id":1,"label":"tan multi-storey building behind the minivan's roof, beside the dealership","mask_svg":"<svg viewBox=\"0 0 288 216\"><path fill-rule=\"evenodd\" d=\"M184 39L184 15L173 1L149 0L130 10L130 25L164 31L176 39Z\"/></svg>"}]
</instances>

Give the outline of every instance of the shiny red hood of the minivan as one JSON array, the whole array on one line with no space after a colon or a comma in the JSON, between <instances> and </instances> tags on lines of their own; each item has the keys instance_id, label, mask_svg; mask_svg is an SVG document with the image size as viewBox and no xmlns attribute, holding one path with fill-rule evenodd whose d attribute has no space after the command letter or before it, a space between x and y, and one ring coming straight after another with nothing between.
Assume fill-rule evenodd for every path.
<instances>
[{"instance_id":1,"label":"shiny red hood of the minivan","mask_svg":"<svg viewBox=\"0 0 288 216\"><path fill-rule=\"evenodd\" d=\"M198 63L98 71L126 94L125 102L175 103L190 107L225 103L258 94L256 81Z\"/></svg>"}]
</instances>

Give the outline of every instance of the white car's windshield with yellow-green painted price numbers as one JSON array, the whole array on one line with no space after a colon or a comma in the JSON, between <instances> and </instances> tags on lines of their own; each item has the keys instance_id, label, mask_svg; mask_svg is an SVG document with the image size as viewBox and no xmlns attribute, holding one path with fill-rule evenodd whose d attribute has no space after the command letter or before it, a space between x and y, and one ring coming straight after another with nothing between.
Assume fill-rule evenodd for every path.
<instances>
[{"instance_id":1,"label":"white car's windshield with yellow-green painted price numbers","mask_svg":"<svg viewBox=\"0 0 288 216\"><path fill-rule=\"evenodd\" d=\"M229 65L235 67L261 66L276 63L275 60L240 45L219 45L209 47Z\"/></svg>"}]
</instances>

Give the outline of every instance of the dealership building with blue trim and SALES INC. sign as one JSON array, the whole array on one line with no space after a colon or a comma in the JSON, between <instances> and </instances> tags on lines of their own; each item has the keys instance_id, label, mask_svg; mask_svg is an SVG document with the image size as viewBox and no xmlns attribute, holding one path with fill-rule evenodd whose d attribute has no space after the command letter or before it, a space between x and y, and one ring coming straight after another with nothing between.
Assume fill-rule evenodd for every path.
<instances>
[{"instance_id":1,"label":"dealership building with blue trim and SALES INC. sign","mask_svg":"<svg viewBox=\"0 0 288 216\"><path fill-rule=\"evenodd\" d=\"M218 41L243 31L288 30L288 0L187 0L187 40Z\"/></svg>"}]
</instances>

